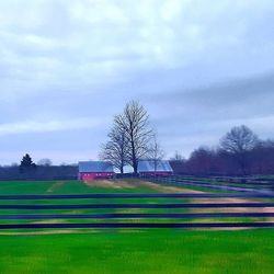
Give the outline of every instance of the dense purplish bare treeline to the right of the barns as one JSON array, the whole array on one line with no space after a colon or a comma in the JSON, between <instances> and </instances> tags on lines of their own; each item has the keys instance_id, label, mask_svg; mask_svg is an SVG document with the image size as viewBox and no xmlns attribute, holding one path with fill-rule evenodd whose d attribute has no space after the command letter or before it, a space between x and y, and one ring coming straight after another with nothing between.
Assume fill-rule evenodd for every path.
<instances>
[{"instance_id":1,"label":"dense purplish bare treeline to the right of the barns","mask_svg":"<svg viewBox=\"0 0 274 274\"><path fill-rule=\"evenodd\" d=\"M262 140L246 125L231 128L217 147L199 147L189 159L171 159L178 173L201 175L274 174L274 140Z\"/></svg>"}]
</instances>

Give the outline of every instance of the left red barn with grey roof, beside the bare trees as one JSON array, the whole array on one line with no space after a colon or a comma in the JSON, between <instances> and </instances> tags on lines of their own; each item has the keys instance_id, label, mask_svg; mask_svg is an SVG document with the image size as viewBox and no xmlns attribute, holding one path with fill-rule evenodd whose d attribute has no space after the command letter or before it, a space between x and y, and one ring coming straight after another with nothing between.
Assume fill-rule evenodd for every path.
<instances>
[{"instance_id":1,"label":"left red barn with grey roof, beside the bare trees","mask_svg":"<svg viewBox=\"0 0 274 274\"><path fill-rule=\"evenodd\" d=\"M78 179L92 181L95 179L110 179L114 176L114 168L110 162L103 161L84 161L79 162Z\"/></svg>"}]
</instances>

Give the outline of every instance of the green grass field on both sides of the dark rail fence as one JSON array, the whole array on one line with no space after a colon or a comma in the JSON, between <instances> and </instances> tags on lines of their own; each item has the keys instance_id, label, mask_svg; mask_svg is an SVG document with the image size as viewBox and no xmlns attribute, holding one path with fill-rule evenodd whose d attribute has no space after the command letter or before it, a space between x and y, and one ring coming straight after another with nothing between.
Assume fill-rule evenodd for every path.
<instances>
[{"instance_id":1,"label":"green grass field on both sides of the dark rail fence","mask_svg":"<svg viewBox=\"0 0 274 274\"><path fill-rule=\"evenodd\" d=\"M191 189L157 186L138 181L1 182L0 194L174 193ZM195 191L194 191L195 192ZM129 199L130 201L130 199ZM165 203L174 203L162 198ZM119 199L116 203L121 202ZM136 202L136 201L135 201ZM138 201L139 202L139 201ZM146 201L145 201L146 202ZM149 202L149 201L147 201ZM1 204L14 201L1 201ZM16 201L50 204L50 201ZM55 201L79 204L88 201ZM96 201L102 203L102 201ZM144 203L144 199L142 199ZM44 214L92 213L42 210ZM101 209L105 212L105 209ZM116 210L116 209L113 209ZM169 209L167 209L168 212ZM185 212L185 209L180 209ZM20 213L30 213L21 210ZM109 210L110 212L110 210ZM136 212L136 210L135 210ZM141 209L144 213L158 209ZM16 209L3 214L19 214ZM138 210L139 213L139 210ZM4 224L8 220L0 220ZM9 220L9 222L19 220ZM20 220L21 222L30 220ZM37 222L37 220L32 220ZM76 220L39 220L70 221ZM96 220L81 220L96 221ZM155 220L150 220L155 221ZM274 230L57 229L0 231L0 273L273 273Z\"/></svg>"}]
</instances>

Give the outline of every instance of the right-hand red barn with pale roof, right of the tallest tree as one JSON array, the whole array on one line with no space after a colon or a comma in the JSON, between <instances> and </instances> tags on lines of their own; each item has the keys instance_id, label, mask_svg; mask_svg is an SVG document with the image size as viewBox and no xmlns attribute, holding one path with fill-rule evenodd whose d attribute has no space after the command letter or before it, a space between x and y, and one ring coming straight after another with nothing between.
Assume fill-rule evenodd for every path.
<instances>
[{"instance_id":1,"label":"right-hand red barn with pale roof, right of the tallest tree","mask_svg":"<svg viewBox=\"0 0 274 274\"><path fill-rule=\"evenodd\" d=\"M169 161L157 161L157 164L152 160L144 160L138 163L138 173L140 175L172 175L173 170L170 167Z\"/></svg>"}]
</instances>

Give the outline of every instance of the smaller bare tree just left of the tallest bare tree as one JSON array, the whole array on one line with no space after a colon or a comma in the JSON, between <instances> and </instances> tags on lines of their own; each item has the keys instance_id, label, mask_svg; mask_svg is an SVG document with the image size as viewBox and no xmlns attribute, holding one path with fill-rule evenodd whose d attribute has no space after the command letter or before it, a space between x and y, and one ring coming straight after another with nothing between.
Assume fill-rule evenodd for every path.
<instances>
[{"instance_id":1,"label":"smaller bare tree just left of the tallest bare tree","mask_svg":"<svg viewBox=\"0 0 274 274\"><path fill-rule=\"evenodd\" d=\"M127 157L127 140L125 132L114 126L107 135L109 141L102 146L100 159L110 161L124 173Z\"/></svg>"}]
</instances>

